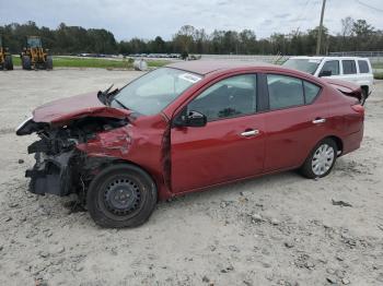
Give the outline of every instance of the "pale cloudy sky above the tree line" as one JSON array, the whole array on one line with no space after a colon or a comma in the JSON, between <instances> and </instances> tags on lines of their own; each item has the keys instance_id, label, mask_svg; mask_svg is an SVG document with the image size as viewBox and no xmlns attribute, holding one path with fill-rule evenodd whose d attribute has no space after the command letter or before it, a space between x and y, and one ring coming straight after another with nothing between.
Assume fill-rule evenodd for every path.
<instances>
[{"instance_id":1,"label":"pale cloudy sky above the tree line","mask_svg":"<svg viewBox=\"0 0 383 286\"><path fill-rule=\"evenodd\" d=\"M182 25L211 33L218 29L255 31L258 38L312 28L320 22L322 0L0 0L0 25L35 21L55 28L59 23L106 28L115 37L170 39ZM379 10L370 7L378 8ZM340 32L340 19L365 19L383 29L382 0L327 0L325 25Z\"/></svg>"}]
</instances>

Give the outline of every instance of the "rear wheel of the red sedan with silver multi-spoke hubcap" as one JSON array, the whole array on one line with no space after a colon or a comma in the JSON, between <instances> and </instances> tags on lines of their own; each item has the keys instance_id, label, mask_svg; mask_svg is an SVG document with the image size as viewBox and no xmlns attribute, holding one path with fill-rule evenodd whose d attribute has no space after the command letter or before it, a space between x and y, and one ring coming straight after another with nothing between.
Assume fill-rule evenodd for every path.
<instances>
[{"instance_id":1,"label":"rear wheel of the red sedan with silver multi-spoke hubcap","mask_svg":"<svg viewBox=\"0 0 383 286\"><path fill-rule=\"evenodd\" d=\"M322 140L301 167L301 172L309 179L322 178L327 176L336 162L337 145L332 139Z\"/></svg>"}]
</instances>

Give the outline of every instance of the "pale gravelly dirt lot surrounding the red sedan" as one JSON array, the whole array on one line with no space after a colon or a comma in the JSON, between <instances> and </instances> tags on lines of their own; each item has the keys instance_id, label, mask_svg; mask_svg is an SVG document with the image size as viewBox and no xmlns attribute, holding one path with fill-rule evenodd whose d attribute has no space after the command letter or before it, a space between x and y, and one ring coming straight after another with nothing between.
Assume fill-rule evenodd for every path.
<instances>
[{"instance_id":1,"label":"pale gravelly dirt lot surrounding the red sedan","mask_svg":"<svg viewBox=\"0 0 383 286\"><path fill-rule=\"evenodd\" d=\"M14 128L43 103L138 75L0 73L0 285L383 285L383 82L362 147L324 179L291 171L216 188L162 202L149 223L121 230L27 193L35 138Z\"/></svg>"}]
</instances>

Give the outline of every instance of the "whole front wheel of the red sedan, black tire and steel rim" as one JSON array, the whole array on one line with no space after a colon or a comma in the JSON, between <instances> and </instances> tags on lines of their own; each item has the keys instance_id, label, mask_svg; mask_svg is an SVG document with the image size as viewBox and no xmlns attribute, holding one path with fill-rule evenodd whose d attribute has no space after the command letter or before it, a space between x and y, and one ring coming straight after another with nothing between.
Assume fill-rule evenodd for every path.
<instances>
[{"instance_id":1,"label":"whole front wheel of the red sedan, black tire and steel rim","mask_svg":"<svg viewBox=\"0 0 383 286\"><path fill-rule=\"evenodd\" d=\"M156 204L156 188L139 167L117 164L92 180L86 206L93 221L108 228L136 227L147 222Z\"/></svg>"}]
</instances>

